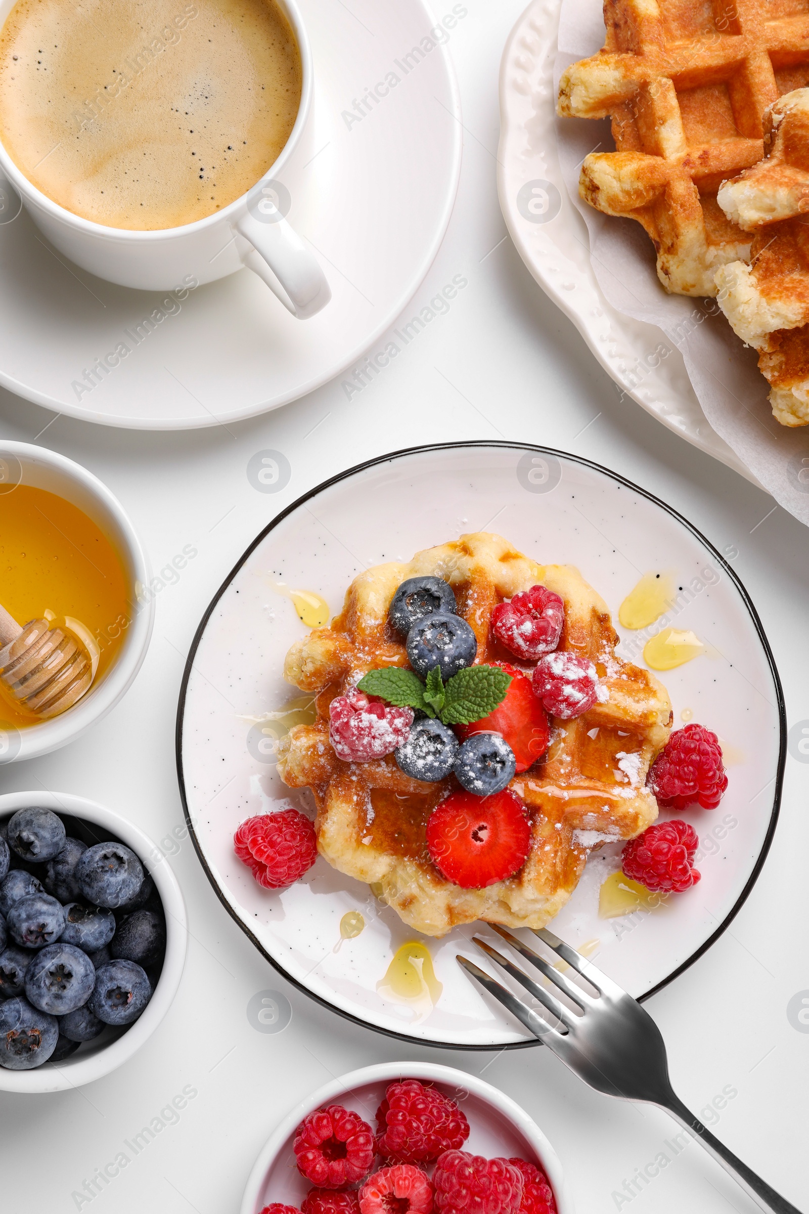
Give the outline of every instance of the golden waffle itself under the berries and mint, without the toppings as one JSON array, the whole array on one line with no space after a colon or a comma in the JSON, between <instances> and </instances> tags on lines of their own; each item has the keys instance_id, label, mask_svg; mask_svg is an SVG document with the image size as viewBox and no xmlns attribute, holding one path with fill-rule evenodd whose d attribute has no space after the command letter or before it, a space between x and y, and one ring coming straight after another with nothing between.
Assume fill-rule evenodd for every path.
<instances>
[{"instance_id":1,"label":"golden waffle itself under the berries and mint, without the toppings","mask_svg":"<svg viewBox=\"0 0 809 1214\"><path fill-rule=\"evenodd\" d=\"M393 755L343 762L329 742L335 696L370 669L408 665L388 606L401 582L425 574L451 584L483 663L514 660L490 637L494 607L540 583L554 590L565 605L559 649L592 660L602 686L603 698L588 713L552 720L546 758L512 781L531 822L531 850L514 877L480 890L445 880L426 846L427 819L458 787L454 777L437 784L411 779ZM312 789L320 853L368 881L425 935L441 936L475 919L542 927L570 897L594 846L631 839L657 816L645 777L668 737L671 704L654 675L615 656L617 640L605 603L575 568L539 566L500 535L462 535L418 552L409 565L361 573L340 615L294 645L284 668L289 682L317 696L315 722L296 726L280 743L278 771L290 788Z\"/></svg>"}]
</instances>

